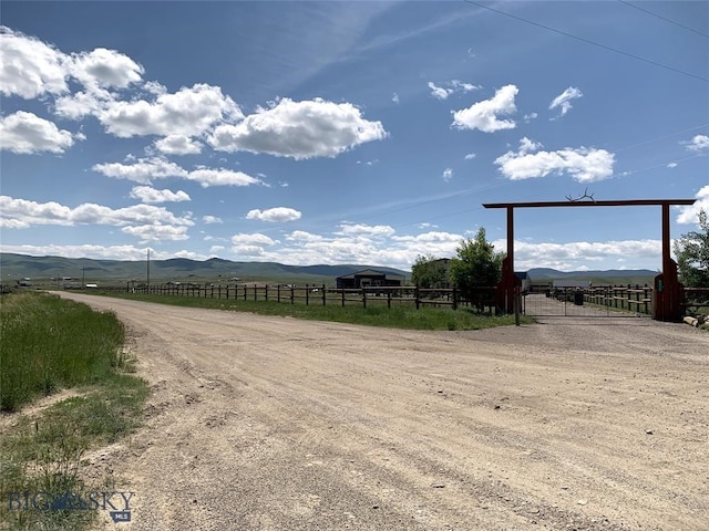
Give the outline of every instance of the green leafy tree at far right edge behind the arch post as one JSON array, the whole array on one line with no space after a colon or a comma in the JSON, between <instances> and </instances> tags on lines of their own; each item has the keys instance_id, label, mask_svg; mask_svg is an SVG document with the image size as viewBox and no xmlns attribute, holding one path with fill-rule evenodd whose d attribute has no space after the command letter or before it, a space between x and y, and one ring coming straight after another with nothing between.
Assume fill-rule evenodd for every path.
<instances>
[{"instance_id":1,"label":"green leafy tree at far right edge behind the arch post","mask_svg":"<svg viewBox=\"0 0 709 531\"><path fill-rule=\"evenodd\" d=\"M703 209L699 210L699 229L675 241L679 278L688 288L709 288L709 220Z\"/></svg>"}]
</instances>

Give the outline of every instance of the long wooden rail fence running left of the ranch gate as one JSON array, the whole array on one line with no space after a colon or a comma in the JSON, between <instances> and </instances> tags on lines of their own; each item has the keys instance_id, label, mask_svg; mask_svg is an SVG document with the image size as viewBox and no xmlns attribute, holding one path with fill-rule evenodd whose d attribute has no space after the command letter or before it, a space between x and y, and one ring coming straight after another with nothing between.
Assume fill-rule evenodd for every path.
<instances>
[{"instance_id":1,"label":"long wooden rail fence running left of the ranch gate","mask_svg":"<svg viewBox=\"0 0 709 531\"><path fill-rule=\"evenodd\" d=\"M412 304L419 310L424 305L474 306L479 312L496 311L496 288L480 288L474 293L474 300L461 296L460 291L451 289L424 289L415 285L403 287L367 287L359 289L337 289L325 284L153 284L126 287L129 293L154 295L192 296L203 299L225 299L243 301L270 301L289 304L319 305L387 305Z\"/></svg>"}]
</instances>

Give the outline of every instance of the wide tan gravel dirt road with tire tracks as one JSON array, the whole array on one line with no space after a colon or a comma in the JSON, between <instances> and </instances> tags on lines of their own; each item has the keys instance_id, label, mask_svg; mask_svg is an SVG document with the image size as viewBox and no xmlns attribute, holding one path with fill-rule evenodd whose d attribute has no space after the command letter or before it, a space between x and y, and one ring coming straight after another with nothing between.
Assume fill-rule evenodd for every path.
<instances>
[{"instance_id":1,"label":"wide tan gravel dirt road with tire tracks","mask_svg":"<svg viewBox=\"0 0 709 531\"><path fill-rule=\"evenodd\" d=\"M648 320L413 332L63 293L154 395L93 456L123 530L707 530L709 334Z\"/></svg>"}]
</instances>

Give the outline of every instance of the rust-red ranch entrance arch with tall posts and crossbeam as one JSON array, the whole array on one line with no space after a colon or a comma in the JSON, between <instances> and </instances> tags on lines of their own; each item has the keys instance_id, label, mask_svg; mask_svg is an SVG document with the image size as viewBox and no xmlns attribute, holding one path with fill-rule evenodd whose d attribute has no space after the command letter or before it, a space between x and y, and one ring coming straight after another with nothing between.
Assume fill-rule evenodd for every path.
<instances>
[{"instance_id":1,"label":"rust-red ranch entrance arch with tall posts and crossbeam","mask_svg":"<svg viewBox=\"0 0 709 531\"><path fill-rule=\"evenodd\" d=\"M514 275L514 209L555 207L662 207L662 272L655 277L653 290L653 319L678 321L681 319L684 287L677 277L677 263L670 256L669 207L693 205L695 199L629 199L629 200L568 200L542 202L487 202L485 208L504 208L507 211L507 256L502 262L502 280L497 285L497 303L506 311L514 308L520 280Z\"/></svg>"}]
</instances>

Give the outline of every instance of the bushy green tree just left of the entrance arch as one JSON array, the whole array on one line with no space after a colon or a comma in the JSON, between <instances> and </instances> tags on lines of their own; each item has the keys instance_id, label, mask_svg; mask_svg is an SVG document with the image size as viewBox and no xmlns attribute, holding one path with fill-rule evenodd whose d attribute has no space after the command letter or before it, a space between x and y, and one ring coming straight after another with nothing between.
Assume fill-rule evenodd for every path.
<instances>
[{"instance_id":1,"label":"bushy green tree just left of the entrance arch","mask_svg":"<svg viewBox=\"0 0 709 531\"><path fill-rule=\"evenodd\" d=\"M485 239L485 229L482 227L475 238L462 240L456 252L456 258L451 260L451 280L464 299L480 308L481 302L491 296L480 288L494 287L500 282L505 253L495 252L493 244Z\"/></svg>"}]
</instances>

